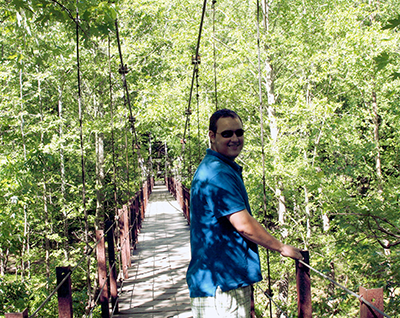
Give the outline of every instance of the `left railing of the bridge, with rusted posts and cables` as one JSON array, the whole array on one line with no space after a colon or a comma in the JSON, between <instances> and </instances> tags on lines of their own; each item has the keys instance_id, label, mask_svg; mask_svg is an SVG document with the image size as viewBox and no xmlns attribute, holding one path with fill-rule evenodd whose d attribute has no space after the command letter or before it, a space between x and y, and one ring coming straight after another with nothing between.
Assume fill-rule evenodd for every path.
<instances>
[{"instance_id":1,"label":"left railing of the bridge, with rusted posts and cables","mask_svg":"<svg viewBox=\"0 0 400 318\"><path fill-rule=\"evenodd\" d=\"M129 204L118 210L115 221L107 221L104 230L96 231L96 244L89 248L89 251L85 253L73 269L70 266L56 268L57 287L32 315L29 315L28 309L25 309L20 313L6 313L5 318L36 317L56 293L58 293L58 317L72 318L71 276L80 267L80 264L92 255L93 251L96 251L97 257L99 287L95 293L97 298L86 316L91 317L93 310L98 305L101 306L101 316L103 318L109 318L114 313L117 313L118 287L121 287L123 281L128 278L128 268L131 266L131 251L136 248L138 234L142 226L142 220L145 217L145 210L153 186L153 178L143 182L143 187L129 200ZM118 233L115 233L116 231ZM119 262L116 260L116 255L119 255ZM110 300L111 313L109 309Z\"/></svg>"}]
</instances>

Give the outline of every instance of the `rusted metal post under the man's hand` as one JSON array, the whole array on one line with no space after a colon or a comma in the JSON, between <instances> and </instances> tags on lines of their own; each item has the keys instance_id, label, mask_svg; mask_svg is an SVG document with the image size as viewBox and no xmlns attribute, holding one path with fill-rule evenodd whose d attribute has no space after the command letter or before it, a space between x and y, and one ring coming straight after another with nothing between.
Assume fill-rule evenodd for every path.
<instances>
[{"instance_id":1,"label":"rusted metal post under the man's hand","mask_svg":"<svg viewBox=\"0 0 400 318\"><path fill-rule=\"evenodd\" d=\"M302 251L304 263L310 264L310 254ZM311 279L310 269L299 261L296 261L296 282L297 282L297 312L298 318L311 318Z\"/></svg>"}]
</instances>

